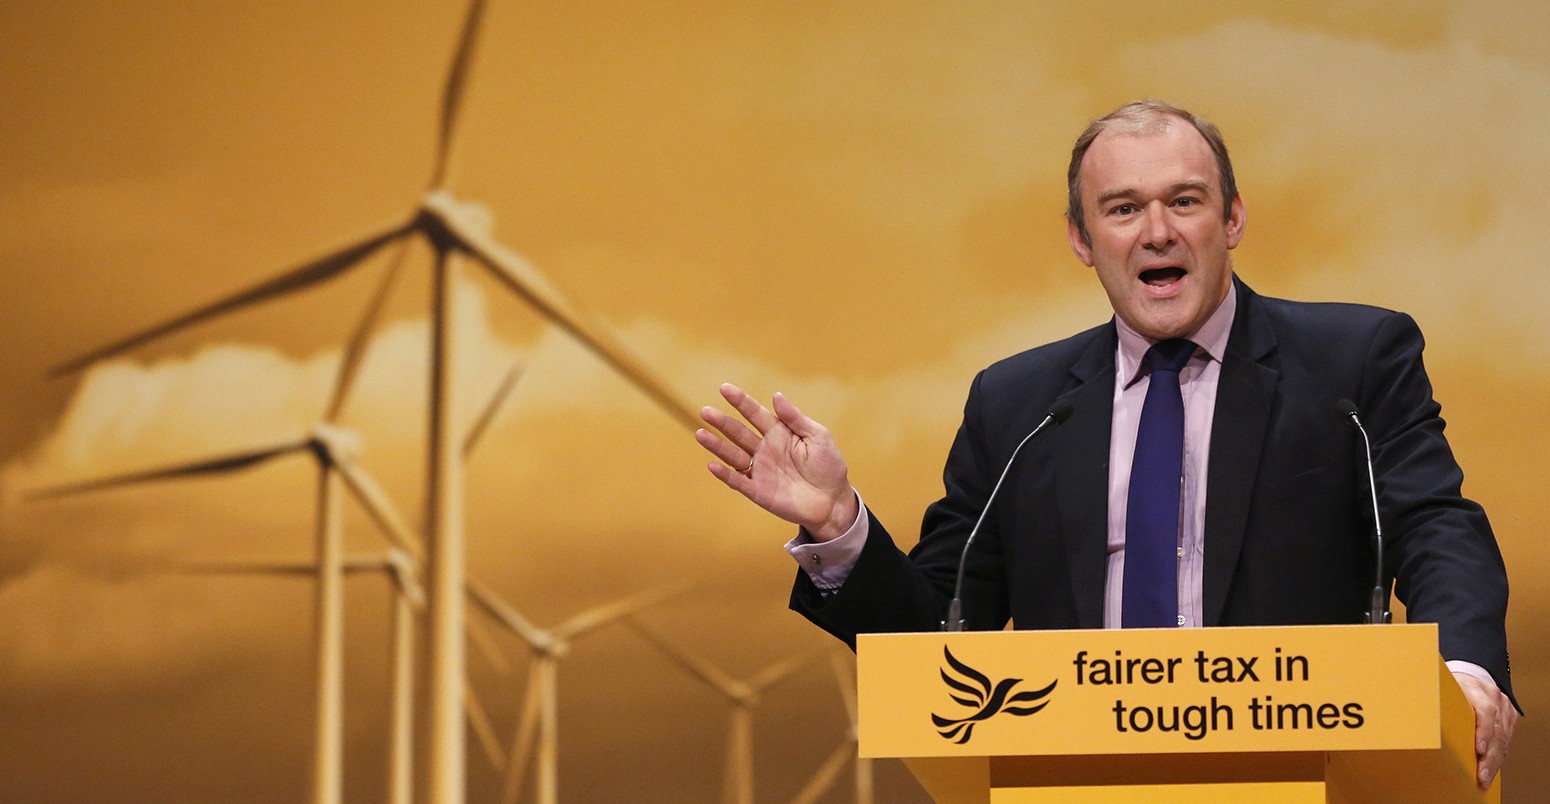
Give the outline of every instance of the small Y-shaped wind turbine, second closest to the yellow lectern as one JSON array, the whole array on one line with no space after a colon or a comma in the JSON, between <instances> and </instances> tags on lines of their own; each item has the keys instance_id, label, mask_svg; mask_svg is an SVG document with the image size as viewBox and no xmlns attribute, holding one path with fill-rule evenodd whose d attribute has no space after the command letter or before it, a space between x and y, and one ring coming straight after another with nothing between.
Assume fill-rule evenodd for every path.
<instances>
[{"instance_id":1,"label":"small Y-shaped wind turbine, second closest to the yellow lectern","mask_svg":"<svg viewBox=\"0 0 1550 804\"><path fill-rule=\"evenodd\" d=\"M764 689L800 671L814 658L814 654L783 658L747 679L738 680L704 657L674 644L640 618L631 617L628 623L629 627L645 637L668 660L721 692L732 703L732 739L727 742L727 775L722 787L722 801L727 804L753 804L753 710L758 708L760 696Z\"/></svg>"}]
</instances>

